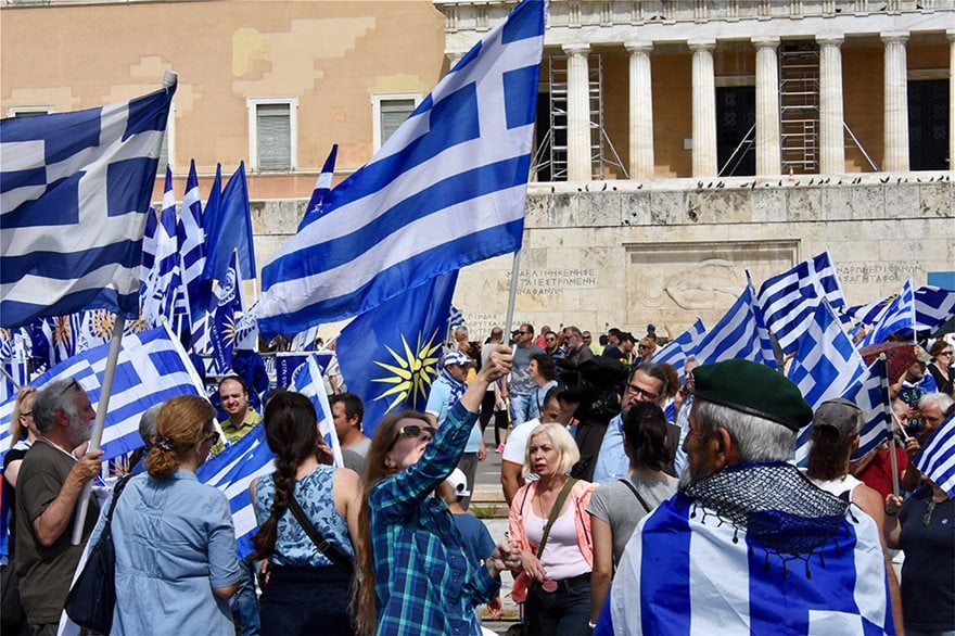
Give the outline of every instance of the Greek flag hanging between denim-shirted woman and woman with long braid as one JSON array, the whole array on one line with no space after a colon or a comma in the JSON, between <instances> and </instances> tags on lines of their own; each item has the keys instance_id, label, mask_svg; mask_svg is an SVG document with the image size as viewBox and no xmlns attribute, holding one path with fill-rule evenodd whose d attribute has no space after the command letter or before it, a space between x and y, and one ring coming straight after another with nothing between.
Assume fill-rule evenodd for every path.
<instances>
[{"instance_id":1,"label":"Greek flag hanging between denim-shirted woman and woman with long braid","mask_svg":"<svg viewBox=\"0 0 955 636\"><path fill-rule=\"evenodd\" d=\"M273 459L275 455L265 440L265 425L258 424L195 471L201 483L220 489L229 499L240 558L254 551L252 535L257 529L249 484L256 478L275 472Z\"/></svg>"}]
</instances>

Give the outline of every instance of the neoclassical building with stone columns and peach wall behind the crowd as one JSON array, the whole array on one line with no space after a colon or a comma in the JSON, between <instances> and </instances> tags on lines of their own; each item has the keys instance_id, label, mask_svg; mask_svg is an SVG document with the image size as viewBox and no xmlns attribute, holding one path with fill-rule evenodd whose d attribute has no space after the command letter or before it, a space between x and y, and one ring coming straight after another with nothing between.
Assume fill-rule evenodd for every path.
<instances>
[{"instance_id":1,"label":"neoclassical building with stone columns and peach wall behind the crowd","mask_svg":"<svg viewBox=\"0 0 955 636\"><path fill-rule=\"evenodd\" d=\"M204 193L244 161L262 266L331 144L342 179L514 4L5 0L0 107L98 106L174 68L177 194L190 160ZM953 276L953 67L955 0L551 0L517 319L712 325L748 270L823 250L851 303ZM476 335L511 264L460 277Z\"/></svg>"}]
</instances>

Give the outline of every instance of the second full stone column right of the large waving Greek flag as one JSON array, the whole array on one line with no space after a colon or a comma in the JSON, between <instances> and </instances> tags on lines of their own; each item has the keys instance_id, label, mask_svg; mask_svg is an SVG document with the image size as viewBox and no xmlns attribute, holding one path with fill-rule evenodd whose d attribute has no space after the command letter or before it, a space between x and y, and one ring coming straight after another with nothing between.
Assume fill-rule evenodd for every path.
<instances>
[{"instance_id":1,"label":"second full stone column right of the large waving Greek flag","mask_svg":"<svg viewBox=\"0 0 955 636\"><path fill-rule=\"evenodd\" d=\"M653 89L650 77L652 42L625 42L631 54L631 179L652 179Z\"/></svg>"}]
</instances>

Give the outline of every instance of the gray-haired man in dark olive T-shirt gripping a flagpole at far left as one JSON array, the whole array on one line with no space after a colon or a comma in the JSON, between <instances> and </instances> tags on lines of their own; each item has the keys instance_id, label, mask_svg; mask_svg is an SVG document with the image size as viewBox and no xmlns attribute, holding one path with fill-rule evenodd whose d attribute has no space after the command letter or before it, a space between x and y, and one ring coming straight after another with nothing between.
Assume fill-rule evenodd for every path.
<instances>
[{"instance_id":1,"label":"gray-haired man in dark olive T-shirt gripping a flagpole at far left","mask_svg":"<svg viewBox=\"0 0 955 636\"><path fill-rule=\"evenodd\" d=\"M16 482L16 574L33 634L56 633L69 582L99 518L90 495L80 544L71 542L76 503L100 474L102 450L77 459L97 414L76 380L55 380L37 393L34 421L40 437L27 451Z\"/></svg>"}]
</instances>

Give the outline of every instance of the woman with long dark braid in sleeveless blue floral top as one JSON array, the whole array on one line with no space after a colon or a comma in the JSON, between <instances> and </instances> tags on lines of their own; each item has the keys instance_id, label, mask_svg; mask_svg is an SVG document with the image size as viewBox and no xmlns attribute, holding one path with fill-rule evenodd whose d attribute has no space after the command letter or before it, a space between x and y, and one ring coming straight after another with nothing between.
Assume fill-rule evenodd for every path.
<instances>
[{"instance_id":1,"label":"woman with long dark braid in sleeveless blue floral top","mask_svg":"<svg viewBox=\"0 0 955 636\"><path fill-rule=\"evenodd\" d=\"M318 418L311 400L300 393L268 403L265 433L276 454L276 472L249 488L258 522L254 559L269 561L259 608L262 634L348 634L351 572L317 549L290 503L294 498L318 536L352 563L361 506L358 474L319 463Z\"/></svg>"}]
</instances>

